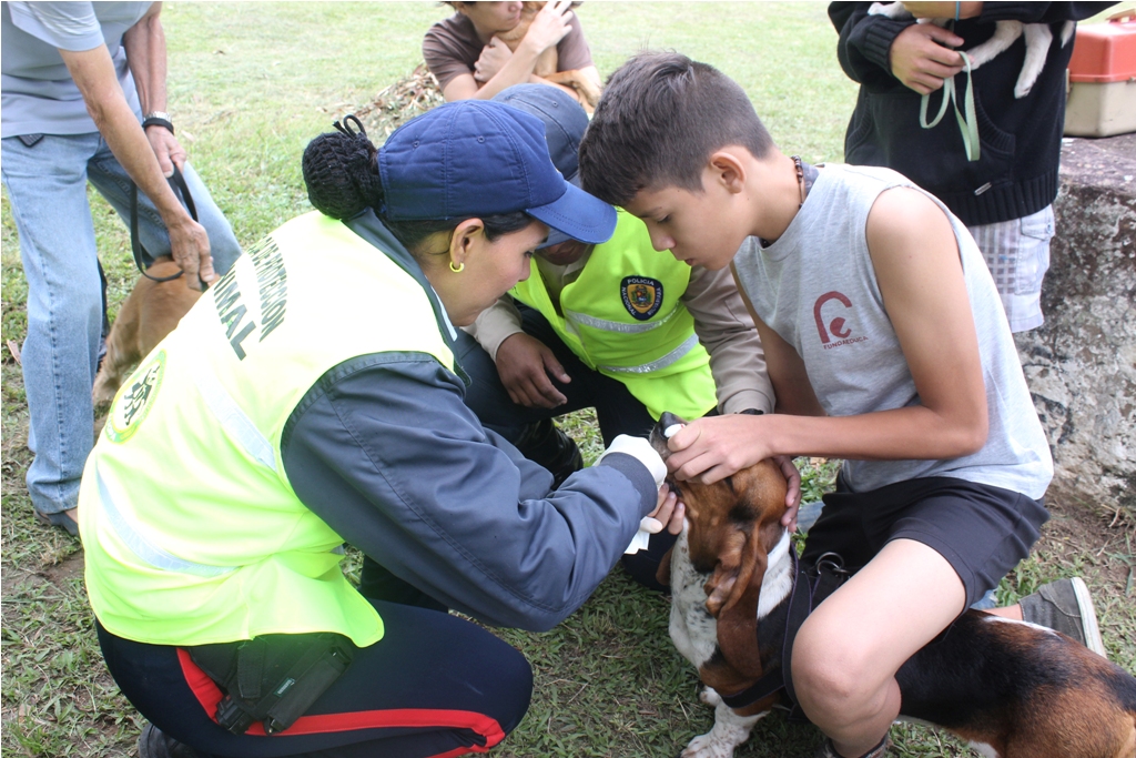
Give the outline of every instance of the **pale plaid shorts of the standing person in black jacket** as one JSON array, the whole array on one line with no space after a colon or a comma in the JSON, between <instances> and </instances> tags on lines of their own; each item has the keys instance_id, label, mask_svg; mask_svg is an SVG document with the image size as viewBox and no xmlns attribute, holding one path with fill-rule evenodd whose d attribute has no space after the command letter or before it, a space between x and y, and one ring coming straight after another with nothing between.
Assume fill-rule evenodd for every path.
<instances>
[{"instance_id":1,"label":"pale plaid shorts of the standing person in black jacket","mask_svg":"<svg viewBox=\"0 0 1136 758\"><path fill-rule=\"evenodd\" d=\"M1050 267L1053 206L997 224L968 226L994 275L1011 332L1042 325L1042 278Z\"/></svg>"}]
</instances>

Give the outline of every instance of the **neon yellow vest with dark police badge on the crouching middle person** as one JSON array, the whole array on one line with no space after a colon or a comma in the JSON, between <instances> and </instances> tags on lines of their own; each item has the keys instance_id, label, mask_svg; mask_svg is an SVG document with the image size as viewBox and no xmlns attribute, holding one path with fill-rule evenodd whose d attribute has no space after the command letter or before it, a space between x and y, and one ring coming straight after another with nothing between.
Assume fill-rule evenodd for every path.
<instances>
[{"instance_id":1,"label":"neon yellow vest with dark police badge on the crouching middle person","mask_svg":"<svg viewBox=\"0 0 1136 758\"><path fill-rule=\"evenodd\" d=\"M710 356L679 301L691 267L651 247L646 226L623 209L612 238L592 250L553 306L534 260L512 294L535 308L590 368L623 382L651 416L698 418L717 405Z\"/></svg>"}]
</instances>

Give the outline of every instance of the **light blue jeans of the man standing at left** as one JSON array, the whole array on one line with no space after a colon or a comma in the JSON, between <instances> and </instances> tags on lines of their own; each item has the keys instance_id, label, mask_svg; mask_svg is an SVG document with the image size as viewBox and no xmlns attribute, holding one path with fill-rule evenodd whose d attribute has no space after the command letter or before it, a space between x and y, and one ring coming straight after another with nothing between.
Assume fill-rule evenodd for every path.
<instances>
[{"instance_id":1,"label":"light blue jeans of the man standing at left","mask_svg":"<svg viewBox=\"0 0 1136 758\"><path fill-rule=\"evenodd\" d=\"M31 423L27 470L32 505L44 514L74 508L94 441L91 388L102 332L102 284L87 181L130 219L131 180L98 132L44 135L32 147L0 140L5 186L19 232L27 278L27 338L22 350ZM223 274L241 255L233 230L197 173L185 182ZM154 256L169 255L169 235L153 203L139 193L139 236ZM149 261L148 261L149 263Z\"/></svg>"}]
</instances>

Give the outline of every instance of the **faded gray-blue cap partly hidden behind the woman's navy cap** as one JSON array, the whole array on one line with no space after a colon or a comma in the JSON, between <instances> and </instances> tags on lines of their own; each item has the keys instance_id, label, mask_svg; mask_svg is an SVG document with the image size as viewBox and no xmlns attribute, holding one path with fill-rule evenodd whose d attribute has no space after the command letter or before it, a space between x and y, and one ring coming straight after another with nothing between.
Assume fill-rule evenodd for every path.
<instances>
[{"instance_id":1,"label":"faded gray-blue cap partly hidden behind the woman's navy cap","mask_svg":"<svg viewBox=\"0 0 1136 758\"><path fill-rule=\"evenodd\" d=\"M587 114L571 95L548 84L515 84L498 92L493 101L540 118L552 165L570 184L579 186L579 142L587 131ZM541 248L571 239L576 238L553 230Z\"/></svg>"}]
</instances>

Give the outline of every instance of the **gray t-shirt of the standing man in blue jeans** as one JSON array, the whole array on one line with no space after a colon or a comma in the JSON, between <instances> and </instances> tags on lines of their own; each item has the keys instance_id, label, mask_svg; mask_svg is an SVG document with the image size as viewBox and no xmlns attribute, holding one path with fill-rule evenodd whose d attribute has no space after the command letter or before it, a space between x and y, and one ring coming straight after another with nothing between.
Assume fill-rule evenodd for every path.
<instances>
[{"instance_id":1,"label":"gray t-shirt of the standing man in blue jeans","mask_svg":"<svg viewBox=\"0 0 1136 758\"><path fill-rule=\"evenodd\" d=\"M151 2L7 2L0 10L2 136L97 132L59 50L106 44L126 102L141 118L123 34Z\"/></svg>"}]
</instances>

